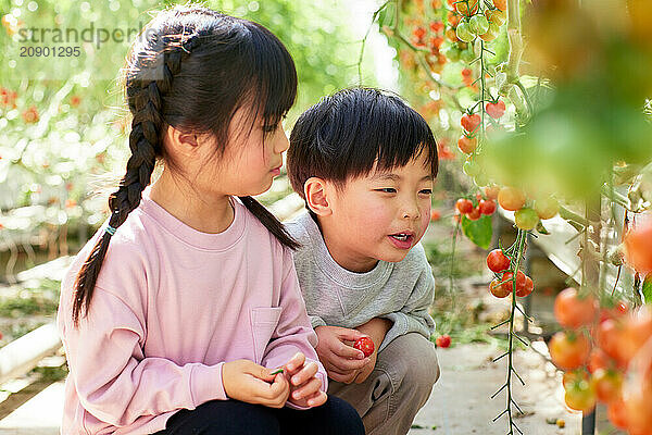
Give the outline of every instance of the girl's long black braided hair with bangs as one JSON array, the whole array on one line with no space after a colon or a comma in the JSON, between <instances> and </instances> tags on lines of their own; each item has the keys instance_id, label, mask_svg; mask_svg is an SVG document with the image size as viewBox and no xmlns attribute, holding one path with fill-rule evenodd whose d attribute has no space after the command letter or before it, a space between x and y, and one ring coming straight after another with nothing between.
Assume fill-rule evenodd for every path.
<instances>
[{"instance_id":1,"label":"girl's long black braided hair with bangs","mask_svg":"<svg viewBox=\"0 0 652 435\"><path fill-rule=\"evenodd\" d=\"M127 58L124 86L133 115L131 156L117 191L109 197L114 228L140 203L156 161L175 167L162 141L167 126L212 134L218 158L239 108L251 108L249 120L280 122L297 96L297 71L283 42L265 27L187 4L160 12L143 28ZM267 209L249 196L240 199L284 246L298 247ZM75 323L83 310L88 312L110 240L104 233L77 274Z\"/></svg>"}]
</instances>

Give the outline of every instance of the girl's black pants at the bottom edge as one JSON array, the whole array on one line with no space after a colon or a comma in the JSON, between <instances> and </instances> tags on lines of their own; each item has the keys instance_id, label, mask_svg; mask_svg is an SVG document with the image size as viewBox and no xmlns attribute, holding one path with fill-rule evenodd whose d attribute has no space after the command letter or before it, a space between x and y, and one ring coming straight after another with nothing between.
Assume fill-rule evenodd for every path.
<instances>
[{"instance_id":1,"label":"girl's black pants at the bottom edge","mask_svg":"<svg viewBox=\"0 0 652 435\"><path fill-rule=\"evenodd\" d=\"M154 435L363 435L364 425L349 402L328 396L308 410L276 409L239 400L212 400L183 409Z\"/></svg>"}]
</instances>

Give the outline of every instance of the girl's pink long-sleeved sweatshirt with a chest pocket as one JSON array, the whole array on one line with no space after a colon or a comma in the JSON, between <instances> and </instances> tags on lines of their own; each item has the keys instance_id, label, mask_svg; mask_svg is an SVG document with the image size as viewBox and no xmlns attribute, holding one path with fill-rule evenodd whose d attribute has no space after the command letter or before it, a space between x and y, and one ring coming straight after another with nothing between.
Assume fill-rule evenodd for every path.
<instances>
[{"instance_id":1,"label":"girl's pink long-sleeved sweatshirt with a chest pocket","mask_svg":"<svg viewBox=\"0 0 652 435\"><path fill-rule=\"evenodd\" d=\"M75 276L61 285L58 325L70 375L62 434L151 434L177 410L227 400L222 365L266 368L297 351L319 366L291 252L237 199L223 233L198 232L143 192L112 237L87 318L72 323ZM292 405L289 405L297 408Z\"/></svg>"}]
</instances>

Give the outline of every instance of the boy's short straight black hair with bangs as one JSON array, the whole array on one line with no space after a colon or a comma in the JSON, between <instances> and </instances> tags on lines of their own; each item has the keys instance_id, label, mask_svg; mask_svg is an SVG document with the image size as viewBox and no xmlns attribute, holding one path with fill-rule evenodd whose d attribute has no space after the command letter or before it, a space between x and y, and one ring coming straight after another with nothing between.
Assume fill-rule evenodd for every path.
<instances>
[{"instance_id":1,"label":"boy's short straight black hair with bangs","mask_svg":"<svg viewBox=\"0 0 652 435\"><path fill-rule=\"evenodd\" d=\"M308 109L290 135L287 167L292 188L316 176L343 187L378 170L404 166L425 153L437 176L437 142L428 123L399 97L374 88L350 88ZM305 199L305 198L304 198Z\"/></svg>"}]
</instances>

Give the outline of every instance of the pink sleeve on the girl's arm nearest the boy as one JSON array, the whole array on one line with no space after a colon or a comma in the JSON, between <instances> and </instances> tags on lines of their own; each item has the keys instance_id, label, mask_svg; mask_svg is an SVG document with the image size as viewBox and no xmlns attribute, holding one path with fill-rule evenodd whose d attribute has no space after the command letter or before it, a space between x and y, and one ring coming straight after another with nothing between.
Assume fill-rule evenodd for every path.
<instances>
[{"instance_id":1,"label":"pink sleeve on the girl's arm nearest the boy","mask_svg":"<svg viewBox=\"0 0 652 435\"><path fill-rule=\"evenodd\" d=\"M326 393L328 376L315 350L317 334L312 328L305 311L305 302L301 296L294 262L289 249L284 249L284 276L279 302L283 311L261 364L268 369L276 369L287 363L294 353L301 351L305 356L306 362L317 363L318 371L315 377L322 381L322 390ZM294 409L306 409L290 402L287 402L287 406Z\"/></svg>"}]
</instances>

